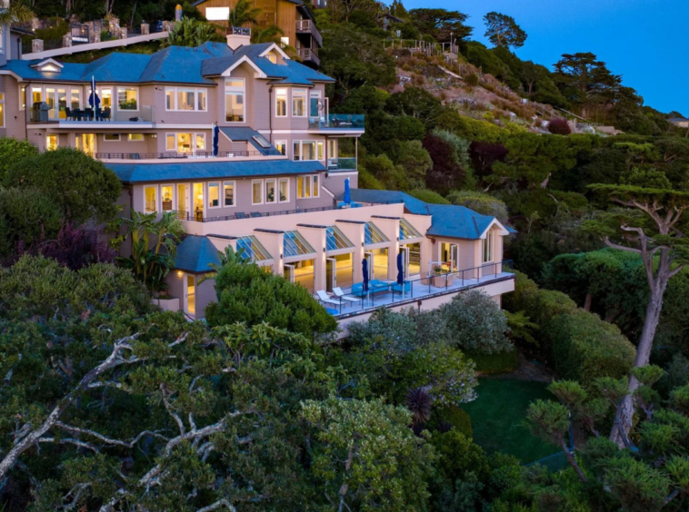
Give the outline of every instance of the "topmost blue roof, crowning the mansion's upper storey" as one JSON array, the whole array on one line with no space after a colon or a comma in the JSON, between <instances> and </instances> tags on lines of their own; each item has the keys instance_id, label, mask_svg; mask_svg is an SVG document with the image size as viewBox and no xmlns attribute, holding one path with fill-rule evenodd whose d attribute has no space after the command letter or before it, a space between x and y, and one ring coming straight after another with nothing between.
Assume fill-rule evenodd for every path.
<instances>
[{"instance_id":1,"label":"topmost blue roof, crowning the mansion's upper storey","mask_svg":"<svg viewBox=\"0 0 689 512\"><path fill-rule=\"evenodd\" d=\"M298 63L285 60L285 64L273 64L264 54L274 43L247 44L233 51L227 44L205 43L197 47L169 46L155 54L105 55L90 64L63 63L59 73L41 72L35 64L45 59L31 61L11 60L0 66L25 80L46 82L96 82L146 84L204 84L215 85L210 76L222 74L246 57L255 64L274 84L311 86L314 82L334 82L325 74Z\"/></svg>"}]
</instances>

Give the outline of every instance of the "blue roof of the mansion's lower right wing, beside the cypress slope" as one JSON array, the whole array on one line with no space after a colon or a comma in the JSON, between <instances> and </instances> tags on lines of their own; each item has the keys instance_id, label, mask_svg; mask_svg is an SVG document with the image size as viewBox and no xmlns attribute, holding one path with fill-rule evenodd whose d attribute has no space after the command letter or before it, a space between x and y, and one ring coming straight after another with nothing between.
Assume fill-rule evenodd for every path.
<instances>
[{"instance_id":1,"label":"blue roof of the mansion's lower right wing, beside the cypress slope","mask_svg":"<svg viewBox=\"0 0 689 512\"><path fill-rule=\"evenodd\" d=\"M432 215L433 223L426 232L430 236L477 240L495 220L494 217L481 215L465 206L431 204L404 192L352 189L351 193L354 202L404 202L404 208L410 213ZM508 231L515 232L511 228Z\"/></svg>"}]
</instances>

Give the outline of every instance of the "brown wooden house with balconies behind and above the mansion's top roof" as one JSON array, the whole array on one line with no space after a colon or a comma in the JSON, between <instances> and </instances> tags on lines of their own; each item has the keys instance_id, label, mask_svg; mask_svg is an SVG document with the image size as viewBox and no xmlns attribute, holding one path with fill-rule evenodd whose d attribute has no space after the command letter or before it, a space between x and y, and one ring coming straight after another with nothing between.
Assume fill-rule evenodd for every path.
<instances>
[{"instance_id":1,"label":"brown wooden house with balconies behind and above the mansion's top roof","mask_svg":"<svg viewBox=\"0 0 689 512\"><path fill-rule=\"evenodd\" d=\"M230 10L236 3L237 0L197 0L193 5L208 21L227 26ZM302 0L253 0L253 6L261 9L257 29L279 26L284 33L282 43L293 46L302 62L318 68L318 50L323 46L323 37L315 26L311 9Z\"/></svg>"}]
</instances>

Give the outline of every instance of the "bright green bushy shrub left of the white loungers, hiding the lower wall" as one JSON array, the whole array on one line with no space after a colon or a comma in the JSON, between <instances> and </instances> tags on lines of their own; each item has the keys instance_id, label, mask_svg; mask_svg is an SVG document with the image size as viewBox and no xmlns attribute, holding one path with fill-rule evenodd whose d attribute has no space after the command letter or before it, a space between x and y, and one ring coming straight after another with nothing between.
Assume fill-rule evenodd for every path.
<instances>
[{"instance_id":1,"label":"bright green bushy shrub left of the white loungers, hiding the lower wall","mask_svg":"<svg viewBox=\"0 0 689 512\"><path fill-rule=\"evenodd\" d=\"M215 291L217 303L205 310L212 327L266 322L309 338L337 328L337 321L308 290L257 265L224 265L215 276Z\"/></svg>"}]
</instances>

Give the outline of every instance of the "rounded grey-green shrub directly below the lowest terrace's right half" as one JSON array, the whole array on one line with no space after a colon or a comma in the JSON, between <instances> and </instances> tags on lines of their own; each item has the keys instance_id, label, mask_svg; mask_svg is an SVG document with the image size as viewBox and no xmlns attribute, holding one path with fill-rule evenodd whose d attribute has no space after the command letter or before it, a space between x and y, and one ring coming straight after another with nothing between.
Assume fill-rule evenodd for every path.
<instances>
[{"instance_id":1,"label":"rounded grey-green shrub directly below the lowest terrace's right half","mask_svg":"<svg viewBox=\"0 0 689 512\"><path fill-rule=\"evenodd\" d=\"M511 350L507 320L500 306L482 291L460 293L440 308L449 341L462 350L494 354Z\"/></svg>"}]
</instances>

